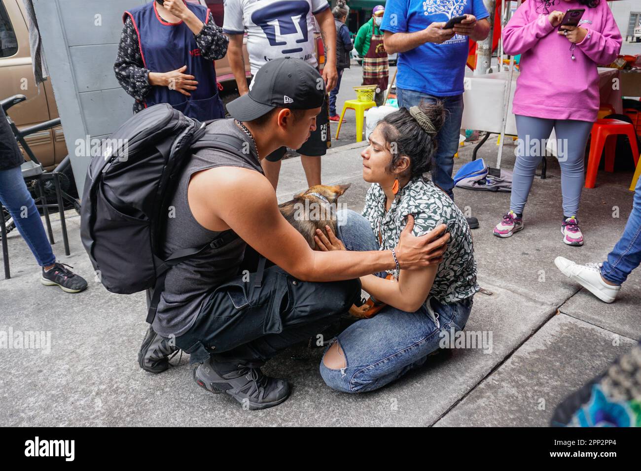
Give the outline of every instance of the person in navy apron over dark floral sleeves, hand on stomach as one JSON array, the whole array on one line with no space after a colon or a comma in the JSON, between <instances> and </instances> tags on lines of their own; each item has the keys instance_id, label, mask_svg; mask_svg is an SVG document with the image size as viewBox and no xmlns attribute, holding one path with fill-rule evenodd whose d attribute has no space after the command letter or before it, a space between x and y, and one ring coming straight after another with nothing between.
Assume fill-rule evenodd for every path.
<instances>
[{"instance_id":1,"label":"person in navy apron over dark floral sleeves, hand on stomach","mask_svg":"<svg viewBox=\"0 0 641 471\"><path fill-rule=\"evenodd\" d=\"M188 117L224 117L214 60L228 39L204 6L156 0L124 12L125 27L114 69L136 99L134 112L169 103Z\"/></svg>"}]
</instances>

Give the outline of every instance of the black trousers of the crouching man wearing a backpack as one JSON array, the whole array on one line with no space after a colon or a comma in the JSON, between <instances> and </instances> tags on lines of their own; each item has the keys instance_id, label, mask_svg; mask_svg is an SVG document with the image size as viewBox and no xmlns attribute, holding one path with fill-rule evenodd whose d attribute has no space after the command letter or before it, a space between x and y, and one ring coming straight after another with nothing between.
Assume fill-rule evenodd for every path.
<instances>
[{"instance_id":1,"label":"black trousers of the crouching man wearing a backpack","mask_svg":"<svg viewBox=\"0 0 641 471\"><path fill-rule=\"evenodd\" d=\"M247 279L248 278L248 279ZM220 363L260 366L279 351L321 333L360 299L359 279L301 281L272 265L260 286L256 272L218 286L176 345L190 363L210 356Z\"/></svg>"}]
</instances>

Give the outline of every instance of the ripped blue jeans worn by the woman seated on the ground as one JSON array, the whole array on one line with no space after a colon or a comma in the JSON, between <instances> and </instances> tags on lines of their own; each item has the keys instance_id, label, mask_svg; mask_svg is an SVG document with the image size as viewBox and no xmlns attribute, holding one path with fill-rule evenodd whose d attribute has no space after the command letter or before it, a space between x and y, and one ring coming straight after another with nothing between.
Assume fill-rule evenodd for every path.
<instances>
[{"instance_id":1,"label":"ripped blue jeans worn by the woman seated on the ground","mask_svg":"<svg viewBox=\"0 0 641 471\"><path fill-rule=\"evenodd\" d=\"M338 236L347 250L378 250L367 219L342 210L338 222ZM373 391L420 367L439 348L440 333L462 330L472 309L471 297L453 304L429 300L435 318L425 306L415 312L386 306L376 316L347 327L334 340L344 353L346 366L333 370L321 361L320 376L325 383L342 392Z\"/></svg>"}]
</instances>

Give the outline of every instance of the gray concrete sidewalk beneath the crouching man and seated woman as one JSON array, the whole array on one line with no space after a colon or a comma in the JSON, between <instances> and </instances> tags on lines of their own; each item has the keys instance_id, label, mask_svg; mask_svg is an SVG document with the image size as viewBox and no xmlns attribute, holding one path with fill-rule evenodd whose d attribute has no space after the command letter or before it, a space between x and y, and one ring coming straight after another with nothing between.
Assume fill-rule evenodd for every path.
<instances>
[{"instance_id":1,"label":"gray concrete sidewalk beneath the crouching man and seated woman","mask_svg":"<svg viewBox=\"0 0 641 471\"><path fill-rule=\"evenodd\" d=\"M495 162L495 138L479 152ZM353 185L342 197L360 211L369 185L362 180L363 144L335 147L323 158L324 183ZM514 146L504 148L513 166ZM456 169L470 160L460 149ZM456 171L455 169L455 171ZM68 222L72 254L63 255L54 222L54 251L87 278L78 295L47 288L22 238L9 237L12 279L0 281L0 331L51 331L51 351L0 349L0 423L5 426L546 426L562 399L596 376L641 337L641 270L615 304L605 304L567 281L554 267L563 255L602 261L622 234L632 204L631 173L599 172L585 190L581 229L586 244L562 243L560 172L535 179L526 228L509 239L492 235L510 194L456 190L456 202L478 217L473 231L479 283L467 331L492 333L491 349L453 349L376 392L329 390L319 374L322 349L296 347L264 368L293 384L276 408L245 411L235 401L193 383L187 355L159 375L138 367L146 331L142 294L108 293L94 279L79 238L79 217ZM297 158L283 162L279 201L306 185ZM618 217L617 216L618 211ZM365 321L366 322L366 321ZM177 363L178 357L174 359Z\"/></svg>"}]
</instances>

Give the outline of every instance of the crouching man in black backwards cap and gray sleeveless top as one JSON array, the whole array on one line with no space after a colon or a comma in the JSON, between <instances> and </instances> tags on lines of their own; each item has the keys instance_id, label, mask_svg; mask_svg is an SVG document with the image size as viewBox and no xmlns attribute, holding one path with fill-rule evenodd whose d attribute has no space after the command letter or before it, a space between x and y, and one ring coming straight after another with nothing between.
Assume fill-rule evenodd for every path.
<instances>
[{"instance_id":1,"label":"crouching man in black backwards cap and gray sleeveless top","mask_svg":"<svg viewBox=\"0 0 641 471\"><path fill-rule=\"evenodd\" d=\"M203 149L192 156L171 202L165 251L207 244L223 231L231 239L169 270L141 366L166 368L166 338L175 337L198 364L199 386L251 409L275 406L287 399L289 384L260 367L347 312L360 297L358 277L397 263L404 269L440 263L449 237L444 226L421 237L404 231L394 251L320 252L282 217L261 160L283 145L301 147L324 95L316 69L279 58L263 65L249 94L228 104L235 119L208 126L208 133L238 136L248 151ZM275 265L243 272L247 245Z\"/></svg>"}]
</instances>

